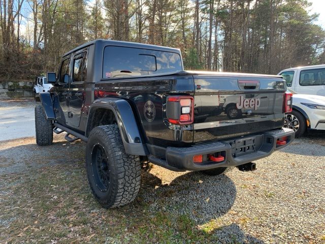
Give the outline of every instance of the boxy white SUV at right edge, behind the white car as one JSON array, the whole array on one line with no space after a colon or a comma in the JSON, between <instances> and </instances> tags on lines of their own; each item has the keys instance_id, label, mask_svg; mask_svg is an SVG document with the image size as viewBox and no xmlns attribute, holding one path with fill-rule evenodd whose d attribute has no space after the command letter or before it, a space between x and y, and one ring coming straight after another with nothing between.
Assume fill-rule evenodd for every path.
<instances>
[{"instance_id":1,"label":"boxy white SUV at right edge, behind the white car","mask_svg":"<svg viewBox=\"0 0 325 244\"><path fill-rule=\"evenodd\" d=\"M325 96L325 65L285 69L278 75L298 94Z\"/></svg>"}]
</instances>

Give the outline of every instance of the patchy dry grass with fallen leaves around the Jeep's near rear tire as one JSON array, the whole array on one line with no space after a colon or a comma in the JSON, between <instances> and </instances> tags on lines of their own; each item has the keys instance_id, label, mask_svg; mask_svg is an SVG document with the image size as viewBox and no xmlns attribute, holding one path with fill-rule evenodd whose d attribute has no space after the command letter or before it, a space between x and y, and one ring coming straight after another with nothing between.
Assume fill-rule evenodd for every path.
<instances>
[{"instance_id":1,"label":"patchy dry grass with fallen leaves around the Jeep's near rear tire","mask_svg":"<svg viewBox=\"0 0 325 244\"><path fill-rule=\"evenodd\" d=\"M31 144L34 140L0 143L0 147L10 149L25 144L38 150L50 148ZM36 167L36 162L27 162L32 157L27 157L25 165L29 168L0 176L0 243L146 243L148 238L151 242L174 242L176 239L203 240L207 237L186 215L170 216L163 210L147 210L148 205L141 196L148 188L154 189L161 184L161 180L149 172L143 172L146 184L134 203L109 210L102 208L88 187L84 144L72 144L76 150L69 155L62 152L62 155L60 150L64 151L66 142L60 140L56 137L53 145L57 155L46 154L43 164L39 161ZM47 163L53 158L62 162L62 157L68 157L69 162ZM7 166L8 162L1 163L0 167Z\"/></svg>"}]
</instances>

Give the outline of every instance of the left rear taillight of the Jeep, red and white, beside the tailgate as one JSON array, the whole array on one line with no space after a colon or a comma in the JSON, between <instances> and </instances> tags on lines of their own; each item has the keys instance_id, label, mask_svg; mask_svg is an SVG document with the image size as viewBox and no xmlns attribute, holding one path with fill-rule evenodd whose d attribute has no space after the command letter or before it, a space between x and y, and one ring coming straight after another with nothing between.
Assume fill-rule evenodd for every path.
<instances>
[{"instance_id":1,"label":"left rear taillight of the Jeep, red and white, beside the tailgate","mask_svg":"<svg viewBox=\"0 0 325 244\"><path fill-rule=\"evenodd\" d=\"M194 101L189 96L170 96L167 98L166 114L169 123L188 125L194 121Z\"/></svg>"}]
</instances>

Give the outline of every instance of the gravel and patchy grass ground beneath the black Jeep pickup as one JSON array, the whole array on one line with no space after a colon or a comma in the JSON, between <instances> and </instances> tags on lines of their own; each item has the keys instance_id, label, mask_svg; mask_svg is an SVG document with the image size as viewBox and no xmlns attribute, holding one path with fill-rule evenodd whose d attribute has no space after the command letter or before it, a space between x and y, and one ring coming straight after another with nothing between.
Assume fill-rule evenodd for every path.
<instances>
[{"instance_id":1,"label":"gravel and patchy grass ground beneath the black Jeep pickup","mask_svg":"<svg viewBox=\"0 0 325 244\"><path fill-rule=\"evenodd\" d=\"M233 169L224 175L205 176L198 172L172 172L152 166L149 172L142 173L142 188L137 201L116 210L102 209L89 193L84 173L84 143L68 143L62 135L55 135L55 143L47 147L38 147L34 138L0 142L0 196L3 198L0 199L0 208L6 209L5 214L0 214L0 232L3 233L0 243L8 240L39 242L42 238L47 240L45 243L51 242L46 238L54 237L49 237L47 232L38 237L20 233L21 229L27 228L28 231L28 226L37 226L35 223L41 223L42 219L45 222L35 229L46 229L45 223L52 226L50 231L57 228L53 235L57 235L61 228L69 229L69 232L55 236L53 240L58 242L71 242L75 240L73 238L82 237L85 239L81 241L87 242L90 236L97 238L92 242L101 242L103 237L107 243L325 243L324 136L325 133L312 133L296 139L282 151L255 161L257 170L254 172ZM72 230L78 230L79 225L75 222L68 224L64 219L68 214L56 214L61 222L55 227L56 222L50 222L53 221L51 211L62 211L63 203L47 207L45 211L38 210L34 215L26 215L25 211L16 209L22 207L19 205L19 194L10 195L10 186L4 187L4 182L10 181L12 186L21 188L30 184L30 177L37 177L44 170L48 173L46 180L54 180L58 173L79 177L69 181L61 179L56 183L50 181L48 184L51 187L47 191L51 200L47 200L48 204L56 197L65 199L69 193L67 199L75 200L69 209L77 209L71 218L75 219L80 212L85 212L82 218L89 217L86 222L90 226L86 228L97 225L105 228L103 232L87 235L78 232L72 237ZM24 179L25 175L28 178ZM36 188L43 180L34 180ZM61 196L58 192L50 193L51 189L60 188L60 184L62 188L71 186L72 190L62 192ZM78 187L81 190L77 193ZM26 204L27 209L38 209L41 198L42 195L31 193L24 196L25 201L30 202L30 205ZM78 210L81 206L87 209ZM16 214L6 214L7 210ZM94 220L94 212L102 217ZM188 216L188 220L184 216ZM19 218L24 219L22 224L18 229L11 229L20 223ZM98 222L106 218L111 222ZM179 227L179 223L186 221L188 225ZM114 225L120 231L118 235L112 234L117 231L111 229ZM142 232L143 229L146 231ZM188 229L194 230L194 234L188 233ZM149 230L152 235L148 234ZM161 237L162 231L167 233L166 236ZM197 236L201 236L200 239L195 239Z\"/></svg>"}]
</instances>

